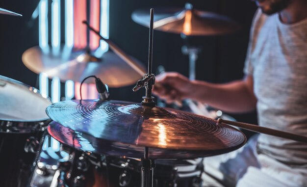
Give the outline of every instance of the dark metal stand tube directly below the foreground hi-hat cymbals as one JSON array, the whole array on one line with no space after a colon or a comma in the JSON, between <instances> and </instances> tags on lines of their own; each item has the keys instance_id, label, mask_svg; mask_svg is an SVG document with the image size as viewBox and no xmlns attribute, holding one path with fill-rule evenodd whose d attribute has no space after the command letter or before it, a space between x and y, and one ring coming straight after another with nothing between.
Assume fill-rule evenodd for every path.
<instances>
[{"instance_id":1,"label":"dark metal stand tube directly below the foreground hi-hat cymbals","mask_svg":"<svg viewBox=\"0 0 307 187\"><path fill-rule=\"evenodd\" d=\"M141 187L153 187L153 168L155 167L155 160L148 159L148 151L149 148L145 147L141 168Z\"/></svg>"}]
</instances>

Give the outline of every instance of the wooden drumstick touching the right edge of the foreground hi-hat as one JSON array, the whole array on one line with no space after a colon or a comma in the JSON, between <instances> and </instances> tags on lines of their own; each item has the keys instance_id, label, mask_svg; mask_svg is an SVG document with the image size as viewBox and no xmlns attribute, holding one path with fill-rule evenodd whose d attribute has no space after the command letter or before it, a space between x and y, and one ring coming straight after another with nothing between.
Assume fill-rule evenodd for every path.
<instances>
[{"instance_id":1,"label":"wooden drumstick touching the right edge of the foreground hi-hat","mask_svg":"<svg viewBox=\"0 0 307 187\"><path fill-rule=\"evenodd\" d=\"M219 118L217 121L218 121L218 123L223 123L223 124L226 124L226 125L233 125L235 127L239 127L239 128L242 128L242 129L246 129L246 130L249 130L249 131L256 132L256 133L269 134L269 135L273 135L273 136L277 136L277 137L282 137L282 138L287 138L287 139L307 143L307 137L302 136L302 135L298 135L298 134L287 133L287 132L284 132L284 131L270 129L270 128L267 128L267 127L260 127L260 126L252 125L252 124L248 124L248 123L228 121L228 120L224 120L222 118Z\"/></svg>"}]
</instances>

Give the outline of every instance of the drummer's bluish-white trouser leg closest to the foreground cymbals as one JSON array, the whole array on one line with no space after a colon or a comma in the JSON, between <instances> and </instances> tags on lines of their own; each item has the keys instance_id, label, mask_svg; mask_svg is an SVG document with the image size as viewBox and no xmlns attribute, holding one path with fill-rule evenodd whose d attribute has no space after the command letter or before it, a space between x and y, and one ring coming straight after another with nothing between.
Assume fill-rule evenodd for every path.
<instances>
[{"instance_id":1,"label":"drummer's bluish-white trouser leg closest to the foreground cymbals","mask_svg":"<svg viewBox=\"0 0 307 187\"><path fill-rule=\"evenodd\" d=\"M257 136L242 148L227 154L204 159L203 187L235 187L249 166L258 168L256 159Z\"/></svg>"}]
</instances>

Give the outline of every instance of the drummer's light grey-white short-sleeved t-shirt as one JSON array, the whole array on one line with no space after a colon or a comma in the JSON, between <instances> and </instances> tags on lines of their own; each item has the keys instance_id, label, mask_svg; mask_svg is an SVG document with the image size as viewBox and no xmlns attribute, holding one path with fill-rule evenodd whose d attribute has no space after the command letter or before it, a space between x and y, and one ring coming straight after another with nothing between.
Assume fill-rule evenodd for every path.
<instances>
[{"instance_id":1,"label":"drummer's light grey-white short-sleeved t-shirt","mask_svg":"<svg viewBox=\"0 0 307 187\"><path fill-rule=\"evenodd\" d=\"M307 136L307 19L286 25L259 9L244 73L254 79L259 125ZM307 175L307 143L260 134L257 149Z\"/></svg>"}]
</instances>

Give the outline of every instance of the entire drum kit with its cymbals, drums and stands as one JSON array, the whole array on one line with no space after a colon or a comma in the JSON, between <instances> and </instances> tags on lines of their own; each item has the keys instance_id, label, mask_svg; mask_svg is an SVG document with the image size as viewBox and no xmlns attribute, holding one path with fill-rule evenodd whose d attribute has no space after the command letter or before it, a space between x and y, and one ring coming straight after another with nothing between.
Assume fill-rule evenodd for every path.
<instances>
[{"instance_id":1,"label":"entire drum kit with its cymbals, drums and stands","mask_svg":"<svg viewBox=\"0 0 307 187\"><path fill-rule=\"evenodd\" d=\"M19 15L5 9L0 13ZM113 50L102 59L92 58L87 51L44 54L37 47L23 54L25 65L35 73L79 82L95 75L98 91L105 96L99 100L51 104L36 88L0 76L1 186L196 187L201 186L203 171L197 158L245 144L245 135L229 121L158 107L152 96L153 29L208 35L228 33L238 26L223 16L193 9L157 9L156 19L153 9L150 13L137 10L132 18L150 27L146 73L140 63L102 36ZM141 74L144 77L138 80ZM141 103L109 100L100 80L112 87L137 82L133 91L145 87L146 95ZM253 125L231 125L267 133ZM270 133L276 135L275 130ZM52 145L53 140L45 139L48 136L60 146ZM307 141L293 134L285 136ZM49 145L57 151L50 151Z\"/></svg>"}]
</instances>

